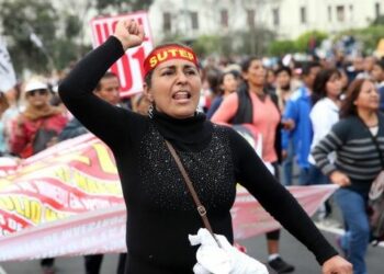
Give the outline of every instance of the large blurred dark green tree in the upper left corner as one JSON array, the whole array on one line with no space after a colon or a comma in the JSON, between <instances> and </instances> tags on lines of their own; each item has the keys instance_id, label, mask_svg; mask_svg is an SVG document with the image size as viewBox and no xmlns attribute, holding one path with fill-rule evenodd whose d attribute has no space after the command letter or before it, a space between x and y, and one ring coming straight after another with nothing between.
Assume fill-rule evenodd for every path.
<instances>
[{"instance_id":1,"label":"large blurred dark green tree in the upper left corner","mask_svg":"<svg viewBox=\"0 0 384 274\"><path fill-rule=\"evenodd\" d=\"M90 49L84 37L90 12L124 13L147 9L153 0L66 0L60 10L50 0L0 0L0 35L18 73L63 69ZM0 28L1 31L1 28Z\"/></svg>"}]
</instances>

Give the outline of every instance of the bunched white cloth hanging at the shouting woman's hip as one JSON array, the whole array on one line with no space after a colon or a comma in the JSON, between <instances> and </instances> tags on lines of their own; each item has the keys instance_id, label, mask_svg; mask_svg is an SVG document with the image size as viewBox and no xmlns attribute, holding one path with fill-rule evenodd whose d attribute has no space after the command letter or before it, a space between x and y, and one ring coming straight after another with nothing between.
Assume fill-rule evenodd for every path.
<instances>
[{"instance_id":1,"label":"bunched white cloth hanging at the shouting woman's hip","mask_svg":"<svg viewBox=\"0 0 384 274\"><path fill-rule=\"evenodd\" d=\"M268 274L266 265L234 248L224 236L215 237L222 248L205 228L199 229L197 235L189 236L192 246L200 244L193 273Z\"/></svg>"}]
</instances>

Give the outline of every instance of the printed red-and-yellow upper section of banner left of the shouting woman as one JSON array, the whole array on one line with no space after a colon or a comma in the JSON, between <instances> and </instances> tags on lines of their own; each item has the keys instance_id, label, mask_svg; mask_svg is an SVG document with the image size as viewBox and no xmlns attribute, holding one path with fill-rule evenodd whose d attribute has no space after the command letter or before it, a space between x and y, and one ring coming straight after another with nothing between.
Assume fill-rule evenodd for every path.
<instances>
[{"instance_id":1,"label":"printed red-and-yellow upper section of banner left of the shouting woman","mask_svg":"<svg viewBox=\"0 0 384 274\"><path fill-rule=\"evenodd\" d=\"M92 135L21 160L0 179L0 235L124 204L112 152Z\"/></svg>"}]
</instances>

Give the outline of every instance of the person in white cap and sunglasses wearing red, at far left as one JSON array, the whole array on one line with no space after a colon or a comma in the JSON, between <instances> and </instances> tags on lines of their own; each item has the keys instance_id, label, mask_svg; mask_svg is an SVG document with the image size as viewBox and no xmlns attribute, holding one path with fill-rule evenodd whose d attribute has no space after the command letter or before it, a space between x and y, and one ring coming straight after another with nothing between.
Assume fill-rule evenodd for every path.
<instances>
[{"instance_id":1,"label":"person in white cap and sunglasses wearing red, at far left","mask_svg":"<svg viewBox=\"0 0 384 274\"><path fill-rule=\"evenodd\" d=\"M67 124L63 111L49 104L48 85L32 79L24 85L25 110L15 118L10 136L11 152L21 158L33 156L47 148Z\"/></svg>"}]
</instances>

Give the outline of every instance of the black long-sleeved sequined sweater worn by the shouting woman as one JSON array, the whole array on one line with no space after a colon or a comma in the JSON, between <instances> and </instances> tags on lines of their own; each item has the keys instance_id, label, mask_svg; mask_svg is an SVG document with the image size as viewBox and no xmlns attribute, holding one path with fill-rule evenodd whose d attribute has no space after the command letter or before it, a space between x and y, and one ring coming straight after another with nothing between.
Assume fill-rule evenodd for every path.
<instances>
[{"instance_id":1,"label":"black long-sleeved sequined sweater worn by the shouting woman","mask_svg":"<svg viewBox=\"0 0 384 274\"><path fill-rule=\"evenodd\" d=\"M229 127L204 115L154 118L113 106L92 93L105 71L124 54L111 36L88 54L59 85L69 111L102 139L115 157L127 207L127 249L148 263L192 270L195 247L188 240L202 221L168 151L165 138L179 153L215 233L233 241L229 209L236 182L244 185L284 228L323 264L337 254L296 199L264 168L248 142Z\"/></svg>"}]
</instances>

